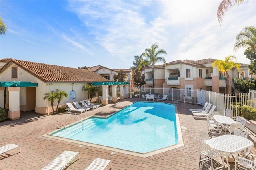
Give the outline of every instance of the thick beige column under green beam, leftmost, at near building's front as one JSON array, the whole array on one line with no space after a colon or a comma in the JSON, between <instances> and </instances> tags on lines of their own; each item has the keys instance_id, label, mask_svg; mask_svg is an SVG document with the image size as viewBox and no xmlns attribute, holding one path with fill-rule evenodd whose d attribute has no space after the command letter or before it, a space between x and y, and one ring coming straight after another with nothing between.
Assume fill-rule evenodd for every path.
<instances>
[{"instance_id":1,"label":"thick beige column under green beam, leftmost, at near building's front","mask_svg":"<svg viewBox=\"0 0 256 170\"><path fill-rule=\"evenodd\" d=\"M8 87L9 111L8 118L11 120L20 118L20 87Z\"/></svg>"}]
</instances>

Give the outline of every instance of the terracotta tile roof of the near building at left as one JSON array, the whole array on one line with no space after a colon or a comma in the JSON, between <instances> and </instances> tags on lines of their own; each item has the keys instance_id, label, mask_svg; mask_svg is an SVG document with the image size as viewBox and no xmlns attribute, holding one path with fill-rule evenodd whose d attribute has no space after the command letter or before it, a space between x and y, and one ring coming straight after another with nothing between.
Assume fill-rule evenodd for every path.
<instances>
[{"instance_id":1,"label":"terracotta tile roof of the near building at left","mask_svg":"<svg viewBox=\"0 0 256 170\"><path fill-rule=\"evenodd\" d=\"M22 61L11 59L6 65L0 69L0 73L10 63L18 65L22 69L28 71L38 79L44 82L96 82L96 81L109 81L104 77L94 73L90 70L76 69L71 67L63 67L58 65L50 65L43 63L34 63L30 61Z\"/></svg>"}]
</instances>

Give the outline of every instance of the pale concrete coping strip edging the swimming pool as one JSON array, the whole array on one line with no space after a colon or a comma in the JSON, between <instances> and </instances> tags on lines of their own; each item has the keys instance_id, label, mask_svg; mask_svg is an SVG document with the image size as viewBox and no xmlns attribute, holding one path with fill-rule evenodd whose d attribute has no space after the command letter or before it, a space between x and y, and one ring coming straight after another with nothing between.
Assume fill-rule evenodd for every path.
<instances>
[{"instance_id":1,"label":"pale concrete coping strip edging the swimming pool","mask_svg":"<svg viewBox=\"0 0 256 170\"><path fill-rule=\"evenodd\" d=\"M136 101L137 102L137 101ZM134 102L134 103L136 103ZM139 101L139 102L146 102L146 101ZM154 102L152 101L152 103L165 103L165 102ZM131 103L130 105L132 105L133 103ZM166 103L168 105L174 105L174 104L170 104L170 103ZM127 105L126 107L130 106L130 105ZM68 138L62 138L62 137L58 137L58 136L52 136L51 134L54 133L54 132L57 132L59 131L60 129L63 129L63 128L66 128L66 127L69 127L69 126L72 126L76 123L78 123L79 121L77 122L74 122L74 123L71 123L67 126L64 126L60 129L57 129L57 130L54 130L50 133L47 133L47 134L44 134L42 135L43 137L46 137L46 138L51 138L51 139L57 139L57 140L62 140L62 141L65 141L65 142L72 142L72 143L76 143L76 144L81 144L81 145L84 145L84 146L91 146L91 147L94 147L94 148L101 148L101 149L104 149L104 150L110 150L112 151L112 154L113 152L119 152L119 153L123 153L123 154L129 154L129 155L133 155L133 156L138 156L138 157L142 157L142 158L147 158L149 156L154 156L156 154L160 154L160 153L163 153L163 152L166 152L166 151L169 151L169 150L172 150L172 149L175 149L175 148L179 148L179 147L182 147L184 146L184 142L183 142L183 138L182 138L182 130L181 130L181 126L180 126L180 119L179 119L179 115L178 115L178 109L177 109L177 106L175 106L175 117L176 117L176 126L177 126L177 136L178 136L178 144L174 144L172 146L167 146L167 147L164 147L164 148L160 148L158 150L154 150L154 151L150 151L150 152L147 152L147 153L138 153L138 152L132 152L132 151L129 151L129 150L123 150L123 149L118 149L118 148L113 148L113 147L109 147L109 146L103 146L103 145L99 145L99 144L93 144L93 143L88 143L88 142L82 142L82 141L79 141L79 140L74 140L74 139L68 139ZM124 108L126 108L124 107ZM124 109L122 108L122 109ZM121 109L120 109L121 110ZM92 115L92 116L88 116L84 119L82 119L81 121L83 120L86 120L86 119L90 119L91 117L97 117L97 118L102 118L102 119L107 119L108 117L118 113L120 110L114 112L113 114L110 114L108 115L107 117L102 117L102 116L95 116L95 115ZM82 147L82 146L80 146Z\"/></svg>"}]
</instances>

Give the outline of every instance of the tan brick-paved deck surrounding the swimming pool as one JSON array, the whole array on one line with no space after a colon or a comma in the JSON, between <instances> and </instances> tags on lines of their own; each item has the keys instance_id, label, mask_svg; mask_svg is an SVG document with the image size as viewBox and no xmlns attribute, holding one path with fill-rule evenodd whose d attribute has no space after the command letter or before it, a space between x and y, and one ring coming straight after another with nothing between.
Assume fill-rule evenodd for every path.
<instances>
[{"instance_id":1,"label":"tan brick-paved deck surrounding the swimming pool","mask_svg":"<svg viewBox=\"0 0 256 170\"><path fill-rule=\"evenodd\" d=\"M116 111L130 105L134 101L142 101L141 99L124 99L118 100L116 103L110 103L107 106L101 106L93 111L78 115L80 119L84 119L91 115L106 117ZM145 100L144 100L145 101ZM173 103L168 101L167 103ZM206 129L205 119L194 119L189 108L202 108L202 106L190 105L178 102L178 113L180 125L182 127L182 137L184 146L142 158L132 156L111 150L104 150L92 146L85 146L63 140L57 140L44 137L43 135L65 127L71 123L78 121L75 115L61 113L58 115L40 115L33 112L24 112L21 118L15 121L4 121L0 123L0 146L13 143L21 146L21 153L15 149L6 154L0 155L0 169L10 170L39 170L44 168L54 158L59 156L65 150L76 151L80 154L80 159L74 159L66 169L84 170L95 158L111 160L113 170L198 170L211 169L209 161L202 162L199 168L198 146L199 146L199 130ZM248 139L255 141L256 134L249 132ZM254 146L255 146L254 142ZM251 147L255 154L254 147ZM214 164L221 163L218 158ZM225 162L225 169L227 164ZM235 169L234 164L230 163L230 169Z\"/></svg>"}]
</instances>

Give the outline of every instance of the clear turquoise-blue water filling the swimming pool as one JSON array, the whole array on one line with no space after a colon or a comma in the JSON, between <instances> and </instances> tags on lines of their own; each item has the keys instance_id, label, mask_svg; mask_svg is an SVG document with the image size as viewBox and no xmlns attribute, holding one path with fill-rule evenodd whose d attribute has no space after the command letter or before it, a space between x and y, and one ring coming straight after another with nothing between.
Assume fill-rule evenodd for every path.
<instances>
[{"instance_id":1,"label":"clear turquoise-blue water filling the swimming pool","mask_svg":"<svg viewBox=\"0 0 256 170\"><path fill-rule=\"evenodd\" d=\"M107 119L91 117L52 133L122 150L147 153L178 143L175 106L135 102Z\"/></svg>"}]
</instances>

